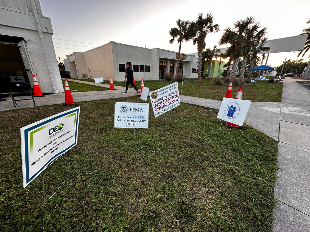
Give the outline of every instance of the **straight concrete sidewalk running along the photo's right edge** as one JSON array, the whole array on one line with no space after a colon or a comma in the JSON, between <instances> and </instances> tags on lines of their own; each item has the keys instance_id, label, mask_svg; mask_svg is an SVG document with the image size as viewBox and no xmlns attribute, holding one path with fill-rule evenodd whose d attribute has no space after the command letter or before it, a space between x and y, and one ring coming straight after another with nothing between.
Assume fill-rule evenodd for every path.
<instances>
[{"instance_id":1,"label":"straight concrete sidewalk running along the photo's right edge","mask_svg":"<svg viewBox=\"0 0 310 232\"><path fill-rule=\"evenodd\" d=\"M283 81L272 230L310 231L310 91Z\"/></svg>"}]
</instances>

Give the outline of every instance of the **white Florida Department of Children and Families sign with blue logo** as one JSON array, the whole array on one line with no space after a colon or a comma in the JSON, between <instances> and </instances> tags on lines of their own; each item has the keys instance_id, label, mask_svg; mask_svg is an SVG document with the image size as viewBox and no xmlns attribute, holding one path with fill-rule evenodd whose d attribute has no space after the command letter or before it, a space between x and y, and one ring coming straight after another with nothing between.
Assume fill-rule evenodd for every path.
<instances>
[{"instance_id":1,"label":"white Florida Department of Children and Families sign with blue logo","mask_svg":"<svg viewBox=\"0 0 310 232\"><path fill-rule=\"evenodd\" d=\"M242 126L250 104L248 100L224 97L217 118Z\"/></svg>"}]
</instances>

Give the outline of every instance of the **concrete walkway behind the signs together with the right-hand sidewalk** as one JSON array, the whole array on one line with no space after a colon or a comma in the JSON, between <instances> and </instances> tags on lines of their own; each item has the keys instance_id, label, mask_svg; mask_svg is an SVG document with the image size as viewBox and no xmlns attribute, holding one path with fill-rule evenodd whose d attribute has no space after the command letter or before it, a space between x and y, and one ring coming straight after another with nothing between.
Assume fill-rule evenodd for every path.
<instances>
[{"instance_id":1,"label":"concrete walkway behind the signs together with the right-hand sidewalk","mask_svg":"<svg viewBox=\"0 0 310 232\"><path fill-rule=\"evenodd\" d=\"M110 88L110 84L68 79ZM70 86L70 84L69 84ZM115 86L116 90L72 92L75 102L134 96L136 91ZM71 89L72 90L72 89ZM140 97L140 96L136 96ZM180 96L181 102L219 109L221 101ZM62 104L64 93L36 97L36 105ZM32 107L29 101L18 101L18 108ZM14 109L10 98L0 102L0 111ZM252 102L245 123L279 141L278 170L274 189L274 232L310 231L310 91L294 79L283 80L282 102Z\"/></svg>"}]
</instances>

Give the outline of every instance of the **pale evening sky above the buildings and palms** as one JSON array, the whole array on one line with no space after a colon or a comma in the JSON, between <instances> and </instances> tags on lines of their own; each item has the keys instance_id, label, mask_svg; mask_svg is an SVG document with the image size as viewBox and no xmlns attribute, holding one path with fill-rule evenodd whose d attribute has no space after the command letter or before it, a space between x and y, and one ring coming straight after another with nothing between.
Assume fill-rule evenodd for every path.
<instances>
[{"instance_id":1,"label":"pale evening sky above the buildings and palms","mask_svg":"<svg viewBox=\"0 0 310 232\"><path fill-rule=\"evenodd\" d=\"M310 27L306 24L310 19L309 0L40 0L40 3L43 16L51 18L55 53L61 62L73 51L84 52L110 41L177 52L177 41L169 43L170 28L176 27L177 19L192 21L200 13L203 16L211 13L214 24L219 24L219 32L207 35L206 48L228 47L219 46L224 30L250 16L261 27L268 28L268 40L296 36ZM192 41L182 43L181 53L196 52L197 45ZM285 58L301 59L297 54L270 54L267 65L279 66ZM303 57L304 62L309 61L308 56L309 52Z\"/></svg>"}]
</instances>

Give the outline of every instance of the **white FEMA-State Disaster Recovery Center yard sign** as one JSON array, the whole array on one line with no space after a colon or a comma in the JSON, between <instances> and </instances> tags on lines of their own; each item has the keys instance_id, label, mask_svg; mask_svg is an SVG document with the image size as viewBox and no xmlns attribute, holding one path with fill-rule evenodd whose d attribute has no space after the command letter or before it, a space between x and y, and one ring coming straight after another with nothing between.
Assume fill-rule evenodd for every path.
<instances>
[{"instance_id":1,"label":"white FEMA-State Disaster Recovery Center yard sign","mask_svg":"<svg viewBox=\"0 0 310 232\"><path fill-rule=\"evenodd\" d=\"M115 102L114 127L148 128L148 103Z\"/></svg>"}]
</instances>

